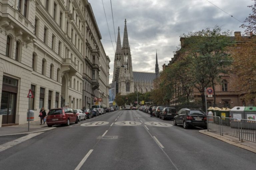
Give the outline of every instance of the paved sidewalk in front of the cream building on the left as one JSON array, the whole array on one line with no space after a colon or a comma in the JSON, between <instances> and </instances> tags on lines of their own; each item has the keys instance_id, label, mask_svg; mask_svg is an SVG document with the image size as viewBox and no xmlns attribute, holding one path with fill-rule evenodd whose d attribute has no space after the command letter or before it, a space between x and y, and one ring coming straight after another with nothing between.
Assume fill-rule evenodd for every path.
<instances>
[{"instance_id":1,"label":"paved sidewalk in front of the cream building on the left","mask_svg":"<svg viewBox=\"0 0 256 170\"><path fill-rule=\"evenodd\" d=\"M56 128L56 127L48 128L46 123L40 125L40 121L32 121L32 122L29 122L29 131L28 131L28 124L1 127L0 128L0 136L35 133L35 132L40 132L40 131L51 130L54 128Z\"/></svg>"}]
</instances>

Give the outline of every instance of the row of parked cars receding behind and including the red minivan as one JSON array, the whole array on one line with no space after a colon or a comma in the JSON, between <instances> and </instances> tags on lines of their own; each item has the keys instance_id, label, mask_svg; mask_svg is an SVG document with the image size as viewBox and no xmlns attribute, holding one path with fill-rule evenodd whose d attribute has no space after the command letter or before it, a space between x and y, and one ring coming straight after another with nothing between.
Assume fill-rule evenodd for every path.
<instances>
[{"instance_id":1,"label":"row of parked cars receding behind and including the red minivan","mask_svg":"<svg viewBox=\"0 0 256 170\"><path fill-rule=\"evenodd\" d=\"M113 107L104 108L102 105L92 105L90 109L72 109L70 107L50 109L47 117L46 124L48 127L53 125L66 125L70 123L78 123L81 120L93 118L94 116L103 115L107 112L114 111Z\"/></svg>"}]
</instances>

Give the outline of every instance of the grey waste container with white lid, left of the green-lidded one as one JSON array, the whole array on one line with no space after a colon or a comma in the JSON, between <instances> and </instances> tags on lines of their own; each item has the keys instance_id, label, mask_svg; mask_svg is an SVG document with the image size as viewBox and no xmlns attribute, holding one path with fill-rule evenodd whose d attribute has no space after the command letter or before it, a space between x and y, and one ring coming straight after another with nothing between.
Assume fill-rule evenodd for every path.
<instances>
[{"instance_id":1,"label":"grey waste container with white lid, left of the green-lidded one","mask_svg":"<svg viewBox=\"0 0 256 170\"><path fill-rule=\"evenodd\" d=\"M238 126L239 126L238 124L240 124L241 119L245 119L244 109L245 109L245 107L243 107L243 106L241 106L241 107L236 106L236 107L233 107L232 109L230 109L230 117L238 119L238 121L230 120L231 128L238 128Z\"/></svg>"}]
</instances>

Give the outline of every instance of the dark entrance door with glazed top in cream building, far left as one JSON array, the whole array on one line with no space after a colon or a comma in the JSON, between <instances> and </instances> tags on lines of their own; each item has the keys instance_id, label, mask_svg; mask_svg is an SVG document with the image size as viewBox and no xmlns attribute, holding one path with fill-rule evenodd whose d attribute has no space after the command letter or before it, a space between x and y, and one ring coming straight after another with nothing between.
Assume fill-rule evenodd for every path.
<instances>
[{"instance_id":1,"label":"dark entrance door with glazed top in cream building, far left","mask_svg":"<svg viewBox=\"0 0 256 170\"><path fill-rule=\"evenodd\" d=\"M16 93L2 91L1 110L2 124L14 124L16 115Z\"/></svg>"}]
</instances>

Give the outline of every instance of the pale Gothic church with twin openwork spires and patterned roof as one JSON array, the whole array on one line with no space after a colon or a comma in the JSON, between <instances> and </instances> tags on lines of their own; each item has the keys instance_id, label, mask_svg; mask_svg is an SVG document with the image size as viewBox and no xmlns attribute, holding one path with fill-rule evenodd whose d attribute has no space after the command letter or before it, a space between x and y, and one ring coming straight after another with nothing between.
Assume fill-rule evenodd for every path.
<instances>
[{"instance_id":1,"label":"pale Gothic church with twin openwork spires and patterned roof","mask_svg":"<svg viewBox=\"0 0 256 170\"><path fill-rule=\"evenodd\" d=\"M145 65L144 65L145 66ZM155 73L132 70L132 56L128 41L128 32L125 19L123 44L121 45L120 29L118 27L117 44L114 59L114 73L111 87L115 87L115 94L146 93L154 89L153 80L158 77L159 67L156 64Z\"/></svg>"}]
</instances>

